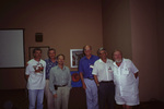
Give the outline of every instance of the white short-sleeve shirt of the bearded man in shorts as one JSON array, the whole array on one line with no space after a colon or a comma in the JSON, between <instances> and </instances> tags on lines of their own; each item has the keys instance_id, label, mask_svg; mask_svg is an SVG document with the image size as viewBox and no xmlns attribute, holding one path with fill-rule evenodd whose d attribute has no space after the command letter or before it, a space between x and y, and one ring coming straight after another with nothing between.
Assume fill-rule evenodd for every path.
<instances>
[{"instance_id":1,"label":"white short-sleeve shirt of the bearded man in shorts","mask_svg":"<svg viewBox=\"0 0 164 109\"><path fill-rule=\"evenodd\" d=\"M139 72L139 70L129 59L122 59L122 62L119 66L116 64L116 62L114 62L114 83L116 85L116 97L132 97L132 95L138 95L139 77L134 77L134 73L137 72Z\"/></svg>"}]
</instances>

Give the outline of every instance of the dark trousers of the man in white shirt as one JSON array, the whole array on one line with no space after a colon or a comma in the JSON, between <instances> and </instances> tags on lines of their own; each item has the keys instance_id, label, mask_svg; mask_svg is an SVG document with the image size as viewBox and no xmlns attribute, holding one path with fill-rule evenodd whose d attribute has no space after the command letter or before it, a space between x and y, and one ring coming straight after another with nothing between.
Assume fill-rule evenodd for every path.
<instances>
[{"instance_id":1,"label":"dark trousers of the man in white shirt","mask_svg":"<svg viewBox=\"0 0 164 109\"><path fill-rule=\"evenodd\" d=\"M99 83L98 87L99 109L115 109L115 85L114 83ZM105 108L107 106L107 108Z\"/></svg>"}]
</instances>

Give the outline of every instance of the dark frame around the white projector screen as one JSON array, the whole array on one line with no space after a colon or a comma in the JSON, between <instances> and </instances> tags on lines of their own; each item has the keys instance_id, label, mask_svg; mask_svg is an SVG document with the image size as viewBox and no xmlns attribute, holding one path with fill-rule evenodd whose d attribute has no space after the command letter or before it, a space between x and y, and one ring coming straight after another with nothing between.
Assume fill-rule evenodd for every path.
<instances>
[{"instance_id":1,"label":"dark frame around the white projector screen","mask_svg":"<svg viewBox=\"0 0 164 109\"><path fill-rule=\"evenodd\" d=\"M23 65L24 66L8 66L8 68L0 68L0 69L25 69L25 28L0 28L0 31L23 31Z\"/></svg>"}]
</instances>

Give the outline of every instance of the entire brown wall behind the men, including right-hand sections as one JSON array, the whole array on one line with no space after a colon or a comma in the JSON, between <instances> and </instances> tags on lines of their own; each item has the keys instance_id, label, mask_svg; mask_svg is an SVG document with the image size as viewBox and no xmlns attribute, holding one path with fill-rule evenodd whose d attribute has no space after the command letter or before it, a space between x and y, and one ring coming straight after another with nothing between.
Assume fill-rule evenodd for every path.
<instances>
[{"instance_id":1,"label":"entire brown wall behind the men, including right-hand sections","mask_svg":"<svg viewBox=\"0 0 164 109\"><path fill-rule=\"evenodd\" d=\"M162 0L55 0L0 4L0 28L25 28L28 47L50 46L66 55L90 44L93 53L104 46L110 53L122 50L140 70L141 101L164 101L164 2ZM44 34L35 43L35 33ZM77 69L71 69L77 70ZM24 88L24 69L0 69L0 89Z\"/></svg>"}]
</instances>

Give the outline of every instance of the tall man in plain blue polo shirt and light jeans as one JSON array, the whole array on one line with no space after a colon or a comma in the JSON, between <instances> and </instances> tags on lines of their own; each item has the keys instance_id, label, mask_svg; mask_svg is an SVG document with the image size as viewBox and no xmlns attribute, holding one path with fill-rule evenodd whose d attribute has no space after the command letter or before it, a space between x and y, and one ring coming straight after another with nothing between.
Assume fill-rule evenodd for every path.
<instances>
[{"instance_id":1,"label":"tall man in plain blue polo shirt and light jeans","mask_svg":"<svg viewBox=\"0 0 164 109\"><path fill-rule=\"evenodd\" d=\"M98 109L97 86L92 74L94 62L98 60L98 57L92 55L92 47L89 45L84 46L83 50L85 57L80 60L79 72L86 93L87 109Z\"/></svg>"}]
</instances>

